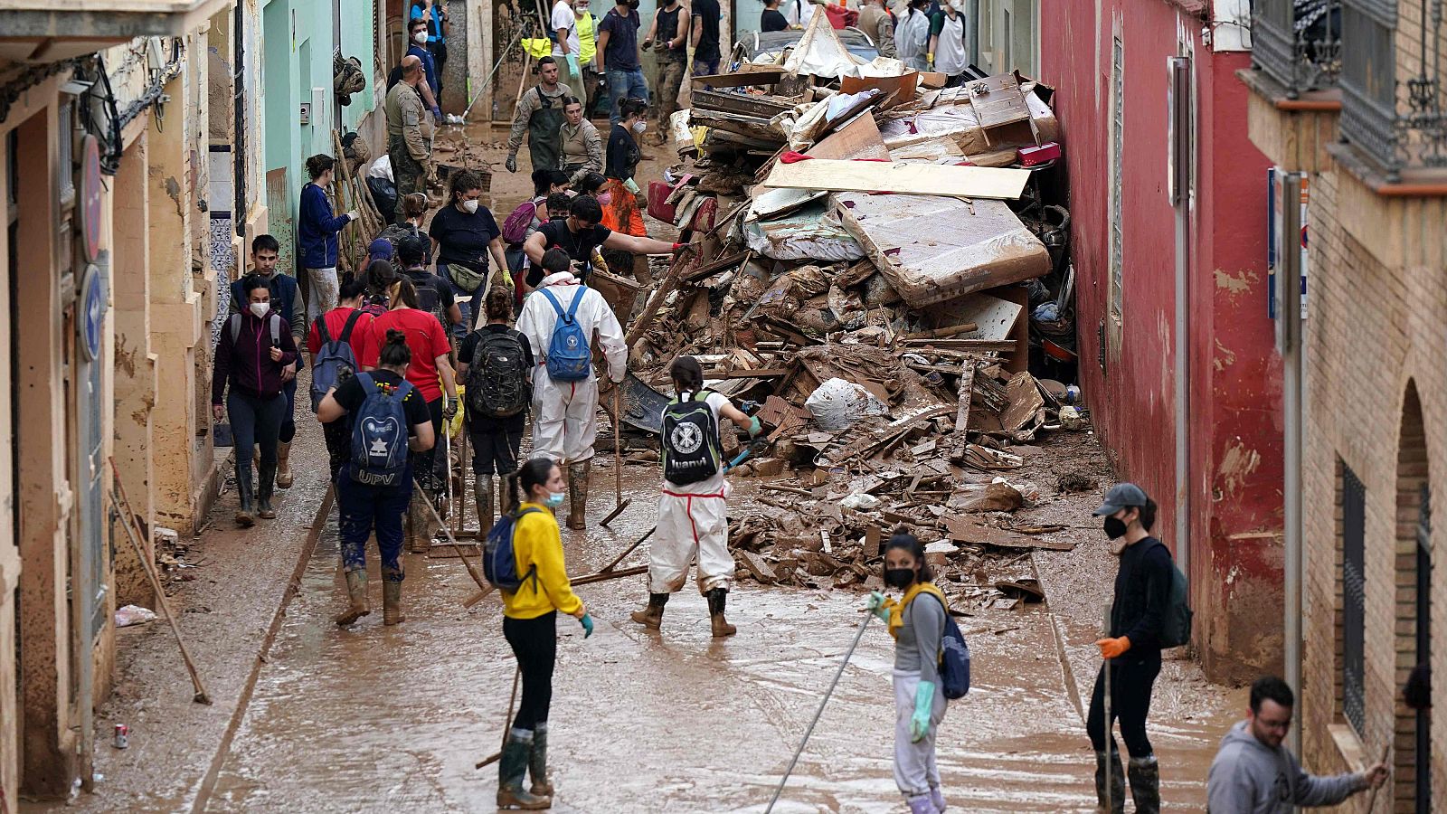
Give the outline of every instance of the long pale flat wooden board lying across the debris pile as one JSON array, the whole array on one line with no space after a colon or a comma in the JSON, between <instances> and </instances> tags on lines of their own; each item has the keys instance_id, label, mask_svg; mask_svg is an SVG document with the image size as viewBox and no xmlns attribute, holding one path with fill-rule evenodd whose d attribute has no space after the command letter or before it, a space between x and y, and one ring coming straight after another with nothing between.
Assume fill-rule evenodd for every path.
<instances>
[{"instance_id":1,"label":"long pale flat wooden board lying across the debris pile","mask_svg":"<svg viewBox=\"0 0 1447 814\"><path fill-rule=\"evenodd\" d=\"M768 177L764 178L764 185L835 193L904 193L1016 200L1024 191L1024 182L1029 178L1027 169L820 158L776 164Z\"/></svg>"}]
</instances>

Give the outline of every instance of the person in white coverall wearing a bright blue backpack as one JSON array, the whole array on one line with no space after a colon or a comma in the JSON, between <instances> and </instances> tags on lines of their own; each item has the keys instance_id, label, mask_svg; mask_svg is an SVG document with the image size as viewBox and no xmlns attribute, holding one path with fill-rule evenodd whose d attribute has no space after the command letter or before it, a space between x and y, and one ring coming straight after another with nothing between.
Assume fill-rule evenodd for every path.
<instances>
[{"instance_id":1,"label":"person in white coverall wearing a bright blue backpack","mask_svg":"<svg viewBox=\"0 0 1447 814\"><path fill-rule=\"evenodd\" d=\"M593 439L598 436L598 375L589 371L583 381L560 382L548 378L547 349L559 316L541 291L553 294L563 313L573 307L574 297L583 298L573 319L589 337L589 348L602 348L608 359L608 378L615 387L622 384L628 372L628 346L624 345L624 329L603 295L573 275L567 252L548 249L543 255L543 269L547 277L522 301L522 313L518 316L518 330L528 337L537 361L532 369L532 458L547 456L567 463L567 527L583 529L587 469L593 461Z\"/></svg>"}]
</instances>

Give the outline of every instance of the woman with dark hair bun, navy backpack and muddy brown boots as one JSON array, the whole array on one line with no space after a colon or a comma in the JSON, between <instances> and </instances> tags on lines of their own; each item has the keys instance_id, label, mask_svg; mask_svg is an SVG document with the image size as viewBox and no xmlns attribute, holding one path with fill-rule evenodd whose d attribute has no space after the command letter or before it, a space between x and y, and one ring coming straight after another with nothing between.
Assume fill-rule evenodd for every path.
<instances>
[{"instance_id":1,"label":"woman with dark hair bun, navy backpack and muddy brown boots","mask_svg":"<svg viewBox=\"0 0 1447 814\"><path fill-rule=\"evenodd\" d=\"M433 419L427 413L418 390L408 384L407 368L412 361L407 335L391 329L383 335L382 348L370 371L360 372L327 391L317 407L317 419L330 423L352 413L372 419L385 414L399 403L407 424L408 448L421 452L433 448ZM382 404L388 401L389 404ZM359 429L353 429L353 445ZM363 448L365 449L365 448ZM404 456L405 461L405 456ZM382 558L382 624L402 621L402 514L412 498L412 472L385 478L368 477L370 459L350 456L336 481L337 507L341 513L341 568L347 574L347 610L337 616L337 624L352 624L370 608L366 598L366 539L376 532L376 547Z\"/></svg>"}]
</instances>

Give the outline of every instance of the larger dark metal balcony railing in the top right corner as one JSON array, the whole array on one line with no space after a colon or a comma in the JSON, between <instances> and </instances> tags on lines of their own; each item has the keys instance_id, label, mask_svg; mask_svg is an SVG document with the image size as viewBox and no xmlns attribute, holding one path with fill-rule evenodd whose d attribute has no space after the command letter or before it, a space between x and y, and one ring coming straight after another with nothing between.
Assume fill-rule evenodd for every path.
<instances>
[{"instance_id":1,"label":"larger dark metal balcony railing in the top right corner","mask_svg":"<svg viewBox=\"0 0 1447 814\"><path fill-rule=\"evenodd\" d=\"M1405 1L1421 20L1415 42L1401 42L1396 0L1341 0L1341 138L1389 182L1406 169L1447 168L1444 0Z\"/></svg>"}]
</instances>

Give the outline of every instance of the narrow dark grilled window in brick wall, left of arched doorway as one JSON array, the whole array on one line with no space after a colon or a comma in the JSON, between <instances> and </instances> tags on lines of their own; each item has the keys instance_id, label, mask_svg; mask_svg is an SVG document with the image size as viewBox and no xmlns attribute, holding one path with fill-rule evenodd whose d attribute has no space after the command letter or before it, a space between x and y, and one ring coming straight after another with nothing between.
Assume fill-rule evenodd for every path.
<instances>
[{"instance_id":1,"label":"narrow dark grilled window in brick wall, left of arched doorway","mask_svg":"<svg viewBox=\"0 0 1447 814\"><path fill-rule=\"evenodd\" d=\"M1341 466L1341 714L1366 731L1366 487Z\"/></svg>"}]
</instances>

